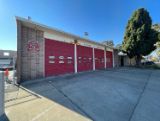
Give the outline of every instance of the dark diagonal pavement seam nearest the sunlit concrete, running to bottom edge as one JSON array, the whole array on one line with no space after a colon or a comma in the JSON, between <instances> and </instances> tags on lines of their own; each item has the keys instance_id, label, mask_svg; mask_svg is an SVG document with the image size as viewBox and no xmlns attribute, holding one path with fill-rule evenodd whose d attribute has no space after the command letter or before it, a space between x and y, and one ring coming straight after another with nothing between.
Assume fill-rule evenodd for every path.
<instances>
[{"instance_id":1,"label":"dark diagonal pavement seam nearest the sunlit concrete, running to bottom edge","mask_svg":"<svg viewBox=\"0 0 160 121\"><path fill-rule=\"evenodd\" d=\"M95 121L93 117L91 117L87 112L85 112L79 105L77 105L71 98L69 98L62 90L58 89L53 83L50 83L60 94L62 94L65 98L67 98L77 109L79 109L82 113L84 113L88 118Z\"/></svg>"}]
</instances>

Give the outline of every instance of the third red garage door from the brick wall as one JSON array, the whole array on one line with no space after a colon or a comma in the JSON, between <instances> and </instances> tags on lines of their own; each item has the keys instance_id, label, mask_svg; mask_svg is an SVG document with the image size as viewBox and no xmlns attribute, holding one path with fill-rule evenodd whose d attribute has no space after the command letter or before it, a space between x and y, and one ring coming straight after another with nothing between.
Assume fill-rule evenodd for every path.
<instances>
[{"instance_id":1,"label":"third red garage door from the brick wall","mask_svg":"<svg viewBox=\"0 0 160 121\"><path fill-rule=\"evenodd\" d=\"M95 53L95 69L104 68L104 50L94 49Z\"/></svg>"}]
</instances>

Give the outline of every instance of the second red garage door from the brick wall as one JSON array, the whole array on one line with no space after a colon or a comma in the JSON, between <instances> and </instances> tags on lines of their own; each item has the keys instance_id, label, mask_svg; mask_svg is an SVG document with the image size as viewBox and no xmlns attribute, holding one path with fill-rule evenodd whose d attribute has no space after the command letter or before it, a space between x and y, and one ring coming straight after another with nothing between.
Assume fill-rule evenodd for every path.
<instances>
[{"instance_id":1,"label":"second red garage door from the brick wall","mask_svg":"<svg viewBox=\"0 0 160 121\"><path fill-rule=\"evenodd\" d=\"M77 45L77 70L88 71L93 70L93 49Z\"/></svg>"}]
</instances>

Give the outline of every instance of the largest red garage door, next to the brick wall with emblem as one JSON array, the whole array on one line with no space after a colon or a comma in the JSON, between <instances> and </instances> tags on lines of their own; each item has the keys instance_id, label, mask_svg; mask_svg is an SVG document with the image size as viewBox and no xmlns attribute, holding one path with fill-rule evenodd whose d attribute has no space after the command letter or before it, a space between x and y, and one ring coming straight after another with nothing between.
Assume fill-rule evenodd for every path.
<instances>
[{"instance_id":1,"label":"largest red garage door, next to the brick wall with emblem","mask_svg":"<svg viewBox=\"0 0 160 121\"><path fill-rule=\"evenodd\" d=\"M74 45L45 39L45 76L74 72Z\"/></svg>"}]
</instances>

